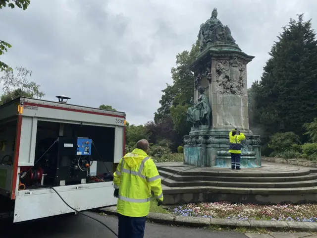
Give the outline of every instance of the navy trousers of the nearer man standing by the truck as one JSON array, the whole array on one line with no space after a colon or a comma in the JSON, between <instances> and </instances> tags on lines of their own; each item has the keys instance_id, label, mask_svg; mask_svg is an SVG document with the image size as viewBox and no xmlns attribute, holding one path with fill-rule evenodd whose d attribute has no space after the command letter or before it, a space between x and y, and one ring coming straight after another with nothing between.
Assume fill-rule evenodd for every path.
<instances>
[{"instance_id":1,"label":"navy trousers of the nearer man standing by the truck","mask_svg":"<svg viewBox=\"0 0 317 238\"><path fill-rule=\"evenodd\" d=\"M118 238L143 238L146 217L126 217L119 214Z\"/></svg>"}]
</instances>

